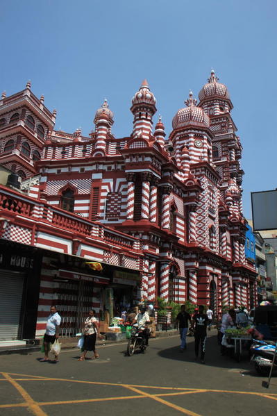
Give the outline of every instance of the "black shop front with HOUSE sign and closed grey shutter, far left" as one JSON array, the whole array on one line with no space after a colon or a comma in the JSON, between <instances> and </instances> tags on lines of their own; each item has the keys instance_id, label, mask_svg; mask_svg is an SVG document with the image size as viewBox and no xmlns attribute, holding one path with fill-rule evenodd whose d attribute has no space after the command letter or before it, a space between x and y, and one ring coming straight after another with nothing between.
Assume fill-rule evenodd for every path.
<instances>
[{"instance_id":1,"label":"black shop front with HOUSE sign and closed grey shutter, far left","mask_svg":"<svg viewBox=\"0 0 277 416\"><path fill-rule=\"evenodd\" d=\"M0 241L0 341L35 338L41 253Z\"/></svg>"}]
</instances>

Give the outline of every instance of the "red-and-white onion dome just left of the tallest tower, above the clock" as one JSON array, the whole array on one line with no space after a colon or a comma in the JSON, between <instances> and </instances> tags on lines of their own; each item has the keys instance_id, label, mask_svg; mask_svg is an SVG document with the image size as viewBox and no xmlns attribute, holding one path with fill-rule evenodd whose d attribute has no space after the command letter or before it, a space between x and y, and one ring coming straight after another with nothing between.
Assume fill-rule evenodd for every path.
<instances>
[{"instance_id":1,"label":"red-and-white onion dome just left of the tallest tower, above the clock","mask_svg":"<svg viewBox=\"0 0 277 416\"><path fill-rule=\"evenodd\" d=\"M202 108L196 107L196 99L193 98L192 91L190 91L190 97L185 101L187 107L178 110L178 113L172 120L172 127L179 128L183 126L197 126L197 127L210 127L210 119L208 115L204 113Z\"/></svg>"}]
</instances>

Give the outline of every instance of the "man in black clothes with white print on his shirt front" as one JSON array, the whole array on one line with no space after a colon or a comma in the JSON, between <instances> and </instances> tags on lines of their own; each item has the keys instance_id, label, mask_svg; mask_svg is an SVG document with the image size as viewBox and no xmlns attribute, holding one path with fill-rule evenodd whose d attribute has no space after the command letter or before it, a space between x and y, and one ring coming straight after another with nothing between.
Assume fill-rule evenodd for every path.
<instances>
[{"instance_id":1,"label":"man in black clothes with white print on his shirt front","mask_svg":"<svg viewBox=\"0 0 277 416\"><path fill-rule=\"evenodd\" d=\"M208 316L204 313L204 306L199 306L199 312L193 318L195 359L198 359L200 345L200 360L205 364L205 340L207 338Z\"/></svg>"}]
</instances>

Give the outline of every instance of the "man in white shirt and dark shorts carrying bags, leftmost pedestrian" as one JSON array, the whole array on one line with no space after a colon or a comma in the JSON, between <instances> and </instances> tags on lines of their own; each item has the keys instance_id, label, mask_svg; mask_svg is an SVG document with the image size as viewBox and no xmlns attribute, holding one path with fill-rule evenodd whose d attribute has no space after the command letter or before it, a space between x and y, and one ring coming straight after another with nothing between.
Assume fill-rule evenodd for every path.
<instances>
[{"instance_id":1,"label":"man in white shirt and dark shorts carrying bags, leftmost pedestrian","mask_svg":"<svg viewBox=\"0 0 277 416\"><path fill-rule=\"evenodd\" d=\"M48 354L50 351L50 344L53 344L60 336L59 332L61 319L62 318L58 314L56 306L51 306L50 315L47 318L47 326L43 337L44 358L40 360L42 363L49 360ZM58 356L55 355L53 361L57 363Z\"/></svg>"}]
</instances>

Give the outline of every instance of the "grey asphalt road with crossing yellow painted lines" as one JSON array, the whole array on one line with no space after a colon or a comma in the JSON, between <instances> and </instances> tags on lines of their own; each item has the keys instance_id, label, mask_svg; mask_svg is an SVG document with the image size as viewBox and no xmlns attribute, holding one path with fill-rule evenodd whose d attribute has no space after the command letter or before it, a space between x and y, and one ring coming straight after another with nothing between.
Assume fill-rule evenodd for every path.
<instances>
[{"instance_id":1,"label":"grey asphalt road with crossing yellow painted lines","mask_svg":"<svg viewBox=\"0 0 277 416\"><path fill-rule=\"evenodd\" d=\"M1 416L224 416L276 414L277 375L269 389L246 356L220 356L208 334L206 364L194 360L194 339L184 353L178 337L151 339L145 354L125 356L126 342L99 348L97 360L78 361L62 350L59 363L42 353L0 356Z\"/></svg>"}]
</instances>

